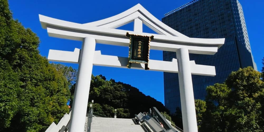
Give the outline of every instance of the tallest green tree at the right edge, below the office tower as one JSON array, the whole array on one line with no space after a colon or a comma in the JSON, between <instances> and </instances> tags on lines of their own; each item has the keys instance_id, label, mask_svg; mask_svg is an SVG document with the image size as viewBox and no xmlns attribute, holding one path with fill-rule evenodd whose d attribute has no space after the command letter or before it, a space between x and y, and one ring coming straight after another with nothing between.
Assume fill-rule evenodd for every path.
<instances>
[{"instance_id":1,"label":"tallest green tree at the right edge, below the office tower","mask_svg":"<svg viewBox=\"0 0 264 132\"><path fill-rule=\"evenodd\" d=\"M228 76L226 84L232 88L229 95L229 130L262 131L260 115L264 87L261 73L252 67L240 68Z\"/></svg>"}]
</instances>

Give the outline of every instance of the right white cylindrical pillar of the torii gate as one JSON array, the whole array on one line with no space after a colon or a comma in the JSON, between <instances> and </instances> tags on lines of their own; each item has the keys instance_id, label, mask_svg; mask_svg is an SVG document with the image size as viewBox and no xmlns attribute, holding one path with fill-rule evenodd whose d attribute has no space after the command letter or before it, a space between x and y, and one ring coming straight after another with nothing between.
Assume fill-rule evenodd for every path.
<instances>
[{"instance_id":1,"label":"right white cylindrical pillar of the torii gate","mask_svg":"<svg viewBox=\"0 0 264 132\"><path fill-rule=\"evenodd\" d=\"M182 123L184 131L198 131L194 91L192 87L192 76L190 67L189 51L186 48L180 48L176 51L178 60L178 76L180 85Z\"/></svg>"}]
</instances>

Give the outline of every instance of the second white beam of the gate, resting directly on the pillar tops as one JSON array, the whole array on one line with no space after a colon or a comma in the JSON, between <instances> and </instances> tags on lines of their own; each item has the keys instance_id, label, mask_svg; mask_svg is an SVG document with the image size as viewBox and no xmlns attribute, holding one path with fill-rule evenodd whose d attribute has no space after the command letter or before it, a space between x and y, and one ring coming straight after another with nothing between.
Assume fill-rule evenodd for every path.
<instances>
[{"instance_id":1,"label":"second white beam of the gate, resting directly on the pillar tops","mask_svg":"<svg viewBox=\"0 0 264 132\"><path fill-rule=\"evenodd\" d=\"M90 36L96 39L96 43L110 44L116 46L127 46L127 47L129 46L129 39L123 37L119 38L119 37L111 37L111 36L89 35L89 34L84 34L82 32L70 32L70 31L53 29L53 28L47 28L47 30L49 36L58 37L62 39L82 41L84 37ZM125 31L124 34L126 34ZM154 35L154 40L155 39L156 39L156 35ZM150 41L150 49L162 50L162 51L175 52L177 49L187 48L189 50L189 53L214 55L219 47L218 45L213 45L213 46L190 45L190 44L188 45L188 43L181 43L181 42L162 43L162 42L155 42L154 40ZM224 44L224 40L220 40L220 41Z\"/></svg>"}]
</instances>

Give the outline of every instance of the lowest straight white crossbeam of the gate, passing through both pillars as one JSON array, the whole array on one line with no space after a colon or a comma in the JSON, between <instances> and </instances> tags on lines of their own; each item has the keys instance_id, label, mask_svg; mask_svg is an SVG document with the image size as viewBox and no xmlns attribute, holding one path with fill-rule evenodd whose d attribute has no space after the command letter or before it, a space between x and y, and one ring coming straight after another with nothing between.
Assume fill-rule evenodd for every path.
<instances>
[{"instance_id":1,"label":"lowest straight white crossbeam of the gate, passing through both pillars","mask_svg":"<svg viewBox=\"0 0 264 132\"><path fill-rule=\"evenodd\" d=\"M59 53L58 55L55 53ZM79 49L75 48L74 52L50 50L48 60L57 62L78 63ZM72 55L72 56L69 56ZM93 58L93 65L106 66L106 67L119 67L127 68L128 58L112 55L102 55L101 51L95 51ZM209 65L197 65L194 60L190 61L191 73L194 75L215 76L215 67ZM145 70L144 64L131 64L132 69ZM178 73L177 59L173 58L172 62L161 60L149 60L149 70L160 72L173 72Z\"/></svg>"}]
</instances>

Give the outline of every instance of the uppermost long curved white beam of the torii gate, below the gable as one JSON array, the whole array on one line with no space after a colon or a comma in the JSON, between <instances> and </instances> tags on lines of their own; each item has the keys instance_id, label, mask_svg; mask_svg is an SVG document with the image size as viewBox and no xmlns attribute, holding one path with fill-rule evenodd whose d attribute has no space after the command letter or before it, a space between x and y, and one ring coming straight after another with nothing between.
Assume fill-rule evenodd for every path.
<instances>
[{"instance_id":1,"label":"uppermost long curved white beam of the torii gate, below the gable","mask_svg":"<svg viewBox=\"0 0 264 132\"><path fill-rule=\"evenodd\" d=\"M74 22L63 21L43 15L39 15L41 25L44 29L48 26L54 29L61 29L63 30L79 30L79 31L88 31L90 33L101 33L104 35L117 35L120 37L124 37L126 34L126 30L119 30L119 29L109 29L104 27L96 27L96 26L89 26ZM151 36L152 34L149 33L139 33L134 31L129 31L130 34L142 34ZM178 36L167 36L167 35L159 35L155 34L154 40L158 41L167 41L167 42L180 42L180 43L188 43L188 44L200 44L200 45L211 45L220 47L224 44L225 39L202 39L202 38L189 38L189 37L178 37Z\"/></svg>"}]
</instances>

